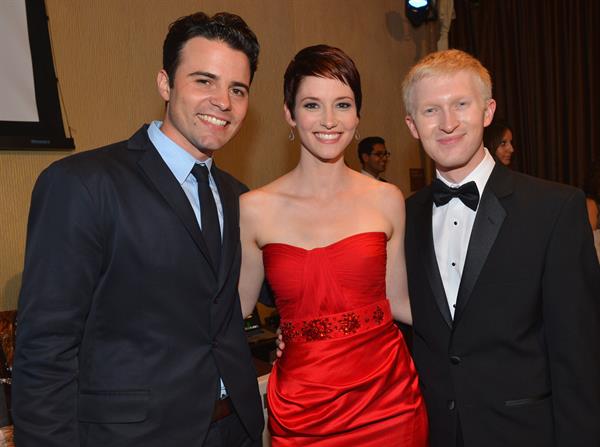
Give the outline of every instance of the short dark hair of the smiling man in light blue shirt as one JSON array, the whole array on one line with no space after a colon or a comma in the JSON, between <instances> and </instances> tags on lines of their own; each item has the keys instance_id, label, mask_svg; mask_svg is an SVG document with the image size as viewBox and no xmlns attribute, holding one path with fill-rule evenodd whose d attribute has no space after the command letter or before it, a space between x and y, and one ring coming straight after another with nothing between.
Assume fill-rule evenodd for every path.
<instances>
[{"instance_id":1,"label":"short dark hair of the smiling man in light blue shirt","mask_svg":"<svg viewBox=\"0 0 600 447\"><path fill-rule=\"evenodd\" d=\"M181 49L194 37L219 40L234 50L243 52L250 62L250 82L258 66L260 45L252 30L244 20L235 14L219 12L212 17L203 12L181 17L169 26L169 32L163 44L163 69L169 76L169 85L173 87L175 72L179 67Z\"/></svg>"}]
</instances>

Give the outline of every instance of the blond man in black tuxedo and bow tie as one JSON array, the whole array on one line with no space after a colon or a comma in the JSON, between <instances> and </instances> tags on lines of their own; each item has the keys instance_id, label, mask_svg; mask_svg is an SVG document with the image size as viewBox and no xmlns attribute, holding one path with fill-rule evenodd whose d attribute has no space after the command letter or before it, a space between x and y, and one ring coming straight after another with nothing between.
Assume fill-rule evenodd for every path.
<instances>
[{"instance_id":1,"label":"blond man in black tuxedo and bow tie","mask_svg":"<svg viewBox=\"0 0 600 447\"><path fill-rule=\"evenodd\" d=\"M426 56L403 90L437 170L406 222L431 446L600 445L600 269L583 194L494 163L491 80L470 55Z\"/></svg>"}]
</instances>

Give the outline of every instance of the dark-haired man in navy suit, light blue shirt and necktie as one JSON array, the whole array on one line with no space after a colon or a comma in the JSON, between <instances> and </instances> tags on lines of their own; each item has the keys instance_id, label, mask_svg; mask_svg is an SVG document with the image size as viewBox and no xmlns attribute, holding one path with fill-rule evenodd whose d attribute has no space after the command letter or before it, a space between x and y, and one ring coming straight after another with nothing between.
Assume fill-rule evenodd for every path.
<instances>
[{"instance_id":1,"label":"dark-haired man in navy suit, light blue shirt and necktie","mask_svg":"<svg viewBox=\"0 0 600 447\"><path fill-rule=\"evenodd\" d=\"M164 121L41 174L19 301L17 445L260 445L237 293L246 188L211 158L244 120L258 52L238 16L177 20L157 77Z\"/></svg>"}]
</instances>

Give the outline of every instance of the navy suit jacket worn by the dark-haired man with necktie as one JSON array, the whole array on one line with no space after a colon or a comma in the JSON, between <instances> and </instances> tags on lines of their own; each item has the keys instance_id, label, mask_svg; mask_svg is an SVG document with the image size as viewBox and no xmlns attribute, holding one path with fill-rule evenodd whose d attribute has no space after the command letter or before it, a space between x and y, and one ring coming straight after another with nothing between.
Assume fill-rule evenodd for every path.
<instances>
[{"instance_id":1,"label":"navy suit jacket worn by the dark-haired man with necktie","mask_svg":"<svg viewBox=\"0 0 600 447\"><path fill-rule=\"evenodd\" d=\"M201 446L222 377L249 434L263 413L243 332L239 201L213 266L191 205L142 127L37 181L18 308L20 447Z\"/></svg>"}]
</instances>

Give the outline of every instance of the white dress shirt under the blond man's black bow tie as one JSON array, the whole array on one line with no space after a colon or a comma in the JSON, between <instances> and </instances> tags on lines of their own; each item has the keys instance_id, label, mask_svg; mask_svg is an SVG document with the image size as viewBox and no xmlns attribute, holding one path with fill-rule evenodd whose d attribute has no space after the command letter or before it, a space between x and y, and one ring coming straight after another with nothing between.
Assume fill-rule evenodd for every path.
<instances>
[{"instance_id":1,"label":"white dress shirt under the blond man's black bow tie","mask_svg":"<svg viewBox=\"0 0 600 447\"><path fill-rule=\"evenodd\" d=\"M450 183L442 177L439 171L436 171L436 174L437 178L453 188L474 181L477 184L479 200L481 201L483 189L490 178L494 165L494 158L485 149L485 156L481 163L459 184ZM454 318L458 288L476 214L475 211L456 197L452 198L446 205L439 207L433 205L431 219L433 246L452 318Z\"/></svg>"}]
</instances>

